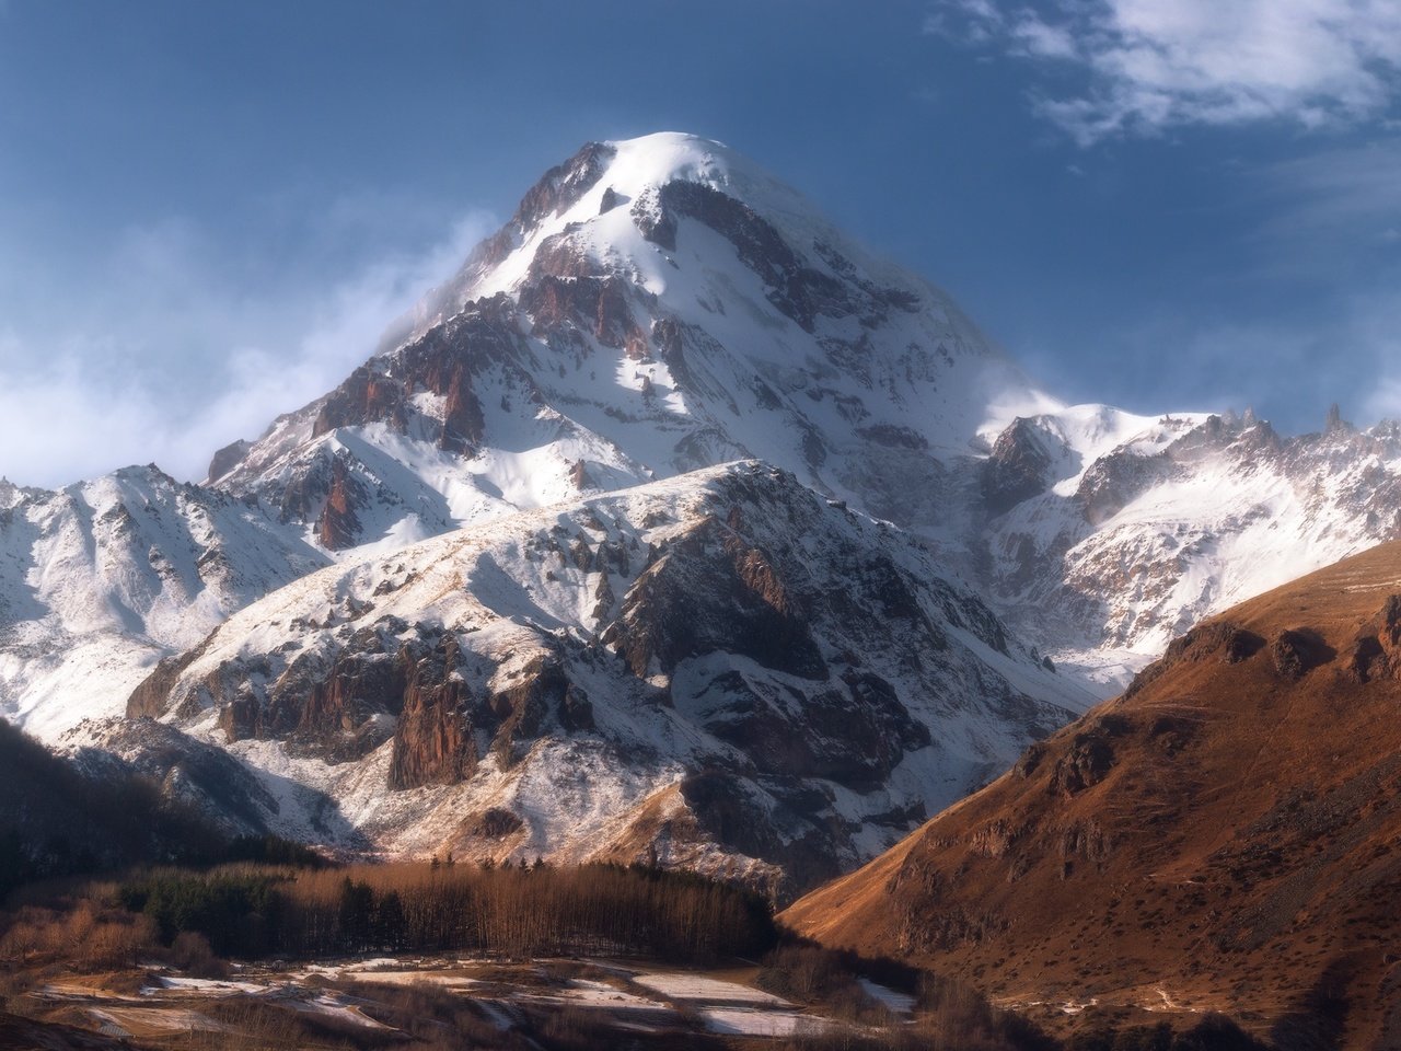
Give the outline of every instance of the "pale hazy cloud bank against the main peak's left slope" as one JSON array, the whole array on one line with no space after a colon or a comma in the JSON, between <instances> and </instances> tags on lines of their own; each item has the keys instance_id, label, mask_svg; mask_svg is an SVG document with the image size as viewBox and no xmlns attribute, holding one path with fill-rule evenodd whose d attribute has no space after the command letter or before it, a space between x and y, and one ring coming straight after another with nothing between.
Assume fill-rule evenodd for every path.
<instances>
[{"instance_id":1,"label":"pale hazy cloud bank against the main peak's left slope","mask_svg":"<svg viewBox=\"0 0 1401 1051\"><path fill-rule=\"evenodd\" d=\"M317 223L343 224L346 207ZM181 220L127 230L98 284L21 290L39 307L0 331L0 474L55 486L154 461L203 478L216 448L343 380L489 228L472 213L416 249L322 261L324 283L262 280Z\"/></svg>"}]
</instances>

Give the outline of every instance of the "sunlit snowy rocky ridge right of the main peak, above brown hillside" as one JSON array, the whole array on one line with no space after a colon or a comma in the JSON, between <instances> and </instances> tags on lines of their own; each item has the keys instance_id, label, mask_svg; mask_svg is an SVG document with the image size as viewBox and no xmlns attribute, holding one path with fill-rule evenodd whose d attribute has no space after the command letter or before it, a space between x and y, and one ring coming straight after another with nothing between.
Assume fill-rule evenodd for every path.
<instances>
[{"instance_id":1,"label":"sunlit snowy rocky ridge right of the main peak, above brown hillside","mask_svg":"<svg viewBox=\"0 0 1401 1051\"><path fill-rule=\"evenodd\" d=\"M1209 614L1401 535L1391 422L1282 439L1248 412L1076 406L1016 420L982 472L989 600L1103 694Z\"/></svg>"}]
</instances>

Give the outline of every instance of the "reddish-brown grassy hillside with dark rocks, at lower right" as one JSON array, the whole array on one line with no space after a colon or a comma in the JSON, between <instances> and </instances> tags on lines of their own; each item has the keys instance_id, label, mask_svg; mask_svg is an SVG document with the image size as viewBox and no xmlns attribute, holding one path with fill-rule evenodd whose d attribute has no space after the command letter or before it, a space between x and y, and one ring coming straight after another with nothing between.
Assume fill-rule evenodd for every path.
<instances>
[{"instance_id":1,"label":"reddish-brown grassy hillside with dark rocks, at lower right","mask_svg":"<svg viewBox=\"0 0 1401 1051\"><path fill-rule=\"evenodd\" d=\"M1234 607L783 914L1020 1003L1401 1038L1401 544Z\"/></svg>"}]
</instances>

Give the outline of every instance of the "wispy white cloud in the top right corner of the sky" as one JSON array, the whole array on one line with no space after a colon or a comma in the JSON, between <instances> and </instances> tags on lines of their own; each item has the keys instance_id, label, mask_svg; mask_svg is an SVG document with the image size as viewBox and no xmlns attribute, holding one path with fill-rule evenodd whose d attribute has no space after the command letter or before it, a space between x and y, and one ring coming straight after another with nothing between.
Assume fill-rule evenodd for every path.
<instances>
[{"instance_id":1,"label":"wispy white cloud in the top right corner of the sky","mask_svg":"<svg viewBox=\"0 0 1401 1051\"><path fill-rule=\"evenodd\" d=\"M1082 90L1037 109L1077 143L1182 125L1386 114L1401 84L1397 0L1055 0L1049 14L944 0L926 32L1055 60Z\"/></svg>"}]
</instances>

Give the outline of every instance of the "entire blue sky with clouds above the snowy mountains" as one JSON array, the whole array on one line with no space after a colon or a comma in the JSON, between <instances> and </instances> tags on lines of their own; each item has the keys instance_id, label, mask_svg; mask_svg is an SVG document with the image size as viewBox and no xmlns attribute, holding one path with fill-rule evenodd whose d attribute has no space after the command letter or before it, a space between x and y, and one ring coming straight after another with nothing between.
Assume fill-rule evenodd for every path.
<instances>
[{"instance_id":1,"label":"entire blue sky with clouds above the snowy mountains","mask_svg":"<svg viewBox=\"0 0 1401 1051\"><path fill-rule=\"evenodd\" d=\"M0 474L209 454L551 164L730 143L1061 397L1401 415L1398 0L0 0Z\"/></svg>"}]
</instances>

